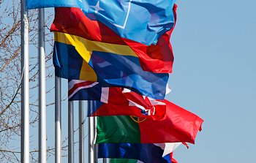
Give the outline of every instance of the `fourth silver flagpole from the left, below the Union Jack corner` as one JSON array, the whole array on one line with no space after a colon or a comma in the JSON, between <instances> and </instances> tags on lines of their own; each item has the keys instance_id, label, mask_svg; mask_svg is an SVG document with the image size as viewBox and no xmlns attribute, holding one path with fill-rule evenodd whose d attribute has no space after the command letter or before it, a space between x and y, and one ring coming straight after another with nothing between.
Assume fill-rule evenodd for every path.
<instances>
[{"instance_id":1,"label":"fourth silver flagpole from the left, below the Union Jack corner","mask_svg":"<svg viewBox=\"0 0 256 163\"><path fill-rule=\"evenodd\" d=\"M68 109L68 162L74 163L74 103L69 101Z\"/></svg>"}]
</instances>

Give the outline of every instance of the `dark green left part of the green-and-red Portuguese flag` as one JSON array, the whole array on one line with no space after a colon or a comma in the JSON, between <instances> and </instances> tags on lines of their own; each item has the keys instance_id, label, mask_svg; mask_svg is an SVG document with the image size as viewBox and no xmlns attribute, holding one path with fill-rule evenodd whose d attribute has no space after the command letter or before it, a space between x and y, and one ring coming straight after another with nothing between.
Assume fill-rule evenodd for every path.
<instances>
[{"instance_id":1,"label":"dark green left part of the green-and-red Portuguese flag","mask_svg":"<svg viewBox=\"0 0 256 163\"><path fill-rule=\"evenodd\" d=\"M140 143L140 127L130 116L99 116L96 143Z\"/></svg>"}]
</instances>

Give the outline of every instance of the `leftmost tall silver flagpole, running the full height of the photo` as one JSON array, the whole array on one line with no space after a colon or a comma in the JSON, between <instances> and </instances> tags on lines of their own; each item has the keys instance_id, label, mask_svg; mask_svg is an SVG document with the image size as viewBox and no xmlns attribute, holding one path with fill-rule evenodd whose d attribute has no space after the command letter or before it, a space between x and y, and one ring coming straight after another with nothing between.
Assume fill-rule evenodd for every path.
<instances>
[{"instance_id":1,"label":"leftmost tall silver flagpole, running the full height of the photo","mask_svg":"<svg viewBox=\"0 0 256 163\"><path fill-rule=\"evenodd\" d=\"M21 0L21 162L29 163L29 20L26 0Z\"/></svg>"}]
</instances>

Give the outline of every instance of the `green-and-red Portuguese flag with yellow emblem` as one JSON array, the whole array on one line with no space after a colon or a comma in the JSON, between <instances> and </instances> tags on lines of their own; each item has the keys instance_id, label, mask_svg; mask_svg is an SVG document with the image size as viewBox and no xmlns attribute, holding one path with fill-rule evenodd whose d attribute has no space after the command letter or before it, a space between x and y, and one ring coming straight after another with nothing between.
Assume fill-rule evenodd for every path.
<instances>
[{"instance_id":1,"label":"green-and-red Portuguese flag with yellow emblem","mask_svg":"<svg viewBox=\"0 0 256 163\"><path fill-rule=\"evenodd\" d=\"M97 117L96 143L195 143L203 119L172 102L161 120L134 116Z\"/></svg>"}]
</instances>

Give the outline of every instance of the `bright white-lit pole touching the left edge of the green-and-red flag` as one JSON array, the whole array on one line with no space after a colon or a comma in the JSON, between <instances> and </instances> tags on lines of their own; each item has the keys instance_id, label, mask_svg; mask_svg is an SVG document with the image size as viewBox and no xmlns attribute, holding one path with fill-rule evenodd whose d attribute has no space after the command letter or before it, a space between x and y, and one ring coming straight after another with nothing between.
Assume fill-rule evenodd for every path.
<instances>
[{"instance_id":1,"label":"bright white-lit pole touching the left edge of the green-and-red flag","mask_svg":"<svg viewBox=\"0 0 256 163\"><path fill-rule=\"evenodd\" d=\"M94 145L94 136L95 136L95 120L94 117L89 117L89 163L95 163L95 145Z\"/></svg>"}]
</instances>

